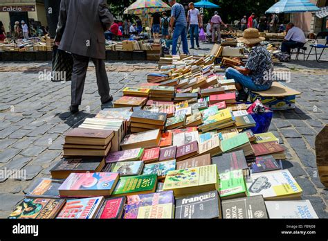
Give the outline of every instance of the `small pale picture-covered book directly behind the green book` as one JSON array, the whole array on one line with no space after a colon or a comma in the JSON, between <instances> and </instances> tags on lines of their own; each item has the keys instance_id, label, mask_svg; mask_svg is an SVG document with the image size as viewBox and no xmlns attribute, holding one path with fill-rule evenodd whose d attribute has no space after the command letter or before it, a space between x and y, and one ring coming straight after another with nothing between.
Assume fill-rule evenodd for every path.
<instances>
[{"instance_id":1,"label":"small pale picture-covered book directly behind the green book","mask_svg":"<svg viewBox=\"0 0 328 241\"><path fill-rule=\"evenodd\" d=\"M111 172L120 173L120 177L140 175L143 171L143 161L120 161L113 163Z\"/></svg>"}]
</instances>

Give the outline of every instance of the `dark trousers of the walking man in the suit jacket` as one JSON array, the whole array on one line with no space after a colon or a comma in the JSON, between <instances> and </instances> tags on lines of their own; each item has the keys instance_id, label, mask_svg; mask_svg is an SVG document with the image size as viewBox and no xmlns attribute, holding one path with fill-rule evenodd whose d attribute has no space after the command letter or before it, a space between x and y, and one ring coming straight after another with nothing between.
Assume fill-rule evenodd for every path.
<instances>
[{"instance_id":1,"label":"dark trousers of the walking man in the suit jacket","mask_svg":"<svg viewBox=\"0 0 328 241\"><path fill-rule=\"evenodd\" d=\"M107 102L111 96L109 95L109 82L104 66L104 60L86 57L82 55L73 55L73 73L71 82L71 105L81 105L86 71L88 69L89 60L95 64L95 76L97 78L98 93L102 103Z\"/></svg>"}]
</instances>

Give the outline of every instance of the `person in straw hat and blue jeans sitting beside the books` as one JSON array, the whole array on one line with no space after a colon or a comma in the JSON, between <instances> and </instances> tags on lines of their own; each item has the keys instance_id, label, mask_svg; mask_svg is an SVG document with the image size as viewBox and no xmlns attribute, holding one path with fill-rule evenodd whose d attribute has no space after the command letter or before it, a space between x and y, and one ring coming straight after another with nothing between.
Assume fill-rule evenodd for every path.
<instances>
[{"instance_id":1,"label":"person in straw hat and blue jeans sitting beside the books","mask_svg":"<svg viewBox=\"0 0 328 241\"><path fill-rule=\"evenodd\" d=\"M226 69L226 78L235 80L239 92L237 100L247 100L248 94L244 88L264 91L271 87L272 78L270 76L273 73L273 61L266 48L259 44L263 40L264 37L259 37L259 30L255 28L247 28L244 30L243 37L238 39L252 50L246 64L241 62L242 66Z\"/></svg>"}]
</instances>

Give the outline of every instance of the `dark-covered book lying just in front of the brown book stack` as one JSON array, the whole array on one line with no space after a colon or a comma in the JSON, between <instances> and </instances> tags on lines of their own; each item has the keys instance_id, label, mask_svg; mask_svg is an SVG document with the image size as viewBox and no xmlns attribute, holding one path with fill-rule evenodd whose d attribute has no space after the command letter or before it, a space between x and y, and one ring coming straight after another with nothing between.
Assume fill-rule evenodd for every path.
<instances>
[{"instance_id":1,"label":"dark-covered book lying just in front of the brown book stack","mask_svg":"<svg viewBox=\"0 0 328 241\"><path fill-rule=\"evenodd\" d=\"M100 172L104 164L103 157L63 158L51 168L50 173L55 179L66 179L72 172Z\"/></svg>"}]
</instances>

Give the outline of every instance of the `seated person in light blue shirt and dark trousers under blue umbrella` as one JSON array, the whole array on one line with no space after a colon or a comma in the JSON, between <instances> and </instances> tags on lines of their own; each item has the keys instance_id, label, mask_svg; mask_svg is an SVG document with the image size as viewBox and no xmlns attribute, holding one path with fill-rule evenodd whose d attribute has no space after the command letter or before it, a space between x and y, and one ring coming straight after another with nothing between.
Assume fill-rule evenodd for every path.
<instances>
[{"instance_id":1,"label":"seated person in light blue shirt and dark trousers under blue umbrella","mask_svg":"<svg viewBox=\"0 0 328 241\"><path fill-rule=\"evenodd\" d=\"M282 42L282 53L291 54L292 48L302 48L307 42L302 29L295 27L293 23L287 24L286 31L286 37L284 37L284 42Z\"/></svg>"}]
</instances>

